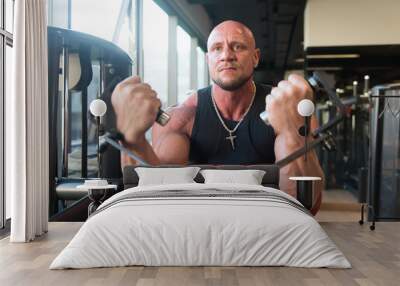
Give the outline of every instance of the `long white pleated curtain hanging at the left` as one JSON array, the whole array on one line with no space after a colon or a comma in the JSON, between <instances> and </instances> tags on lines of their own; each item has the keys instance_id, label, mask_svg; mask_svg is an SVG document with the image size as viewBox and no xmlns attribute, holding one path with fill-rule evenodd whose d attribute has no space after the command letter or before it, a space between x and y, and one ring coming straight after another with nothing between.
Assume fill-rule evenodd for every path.
<instances>
[{"instance_id":1,"label":"long white pleated curtain hanging at the left","mask_svg":"<svg viewBox=\"0 0 400 286\"><path fill-rule=\"evenodd\" d=\"M12 242L48 227L48 87L46 0L15 1L12 93L6 98L6 187Z\"/></svg>"}]
</instances>

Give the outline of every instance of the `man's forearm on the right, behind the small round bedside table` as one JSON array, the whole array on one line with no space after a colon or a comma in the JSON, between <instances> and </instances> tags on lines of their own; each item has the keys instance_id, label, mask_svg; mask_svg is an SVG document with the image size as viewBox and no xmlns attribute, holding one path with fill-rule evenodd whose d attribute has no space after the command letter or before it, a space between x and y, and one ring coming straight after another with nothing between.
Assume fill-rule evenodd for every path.
<instances>
[{"instance_id":1,"label":"man's forearm on the right, behind the small round bedside table","mask_svg":"<svg viewBox=\"0 0 400 286\"><path fill-rule=\"evenodd\" d=\"M290 141L288 141L286 138L279 138L278 136L275 146L276 160L279 161L302 148L304 146L304 138L291 138ZM280 170L279 187L288 194L296 197L296 182L289 180L291 176L316 176L322 178L321 181L316 181L314 185L313 207L311 212L313 214L317 213L321 205L325 177L314 150L307 153L307 161L304 159L304 156L302 156L282 167Z\"/></svg>"}]
</instances>

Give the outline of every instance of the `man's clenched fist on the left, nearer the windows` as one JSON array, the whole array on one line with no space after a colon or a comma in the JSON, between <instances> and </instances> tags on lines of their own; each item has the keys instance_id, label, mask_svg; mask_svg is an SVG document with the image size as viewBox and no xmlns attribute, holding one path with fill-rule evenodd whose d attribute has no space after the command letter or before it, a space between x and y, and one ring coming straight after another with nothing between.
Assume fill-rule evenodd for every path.
<instances>
[{"instance_id":1,"label":"man's clenched fist on the left, nearer the windows","mask_svg":"<svg viewBox=\"0 0 400 286\"><path fill-rule=\"evenodd\" d=\"M117 128L124 134L125 143L136 145L144 140L161 107L151 86L141 83L138 76L129 77L115 87L111 102L117 116Z\"/></svg>"}]
</instances>

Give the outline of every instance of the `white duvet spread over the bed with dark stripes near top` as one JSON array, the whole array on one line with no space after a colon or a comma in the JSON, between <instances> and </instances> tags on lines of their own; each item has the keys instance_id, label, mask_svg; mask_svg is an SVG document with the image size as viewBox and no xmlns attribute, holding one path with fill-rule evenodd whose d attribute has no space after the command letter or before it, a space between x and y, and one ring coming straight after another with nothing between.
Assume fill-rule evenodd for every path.
<instances>
[{"instance_id":1,"label":"white duvet spread over the bed with dark stripes near top","mask_svg":"<svg viewBox=\"0 0 400 286\"><path fill-rule=\"evenodd\" d=\"M133 192L262 190L254 185L175 184L135 187L105 201L50 269L146 266L294 266L350 268L312 216L259 198L174 197L122 200ZM137 193L134 193L137 194Z\"/></svg>"}]
</instances>

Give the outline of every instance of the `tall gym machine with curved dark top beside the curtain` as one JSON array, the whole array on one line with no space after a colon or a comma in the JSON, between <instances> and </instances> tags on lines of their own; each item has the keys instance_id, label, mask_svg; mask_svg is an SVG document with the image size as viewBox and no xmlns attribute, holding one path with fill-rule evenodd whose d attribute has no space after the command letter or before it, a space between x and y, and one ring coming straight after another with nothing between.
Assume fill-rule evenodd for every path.
<instances>
[{"instance_id":1,"label":"tall gym machine with curved dark top beside the curtain","mask_svg":"<svg viewBox=\"0 0 400 286\"><path fill-rule=\"evenodd\" d=\"M85 217L72 218L69 206L85 196L84 192L77 191L76 185L82 183L82 178L95 177L99 169L96 122L87 112L89 103L100 98L112 109L112 91L118 82L131 75L132 60L119 47L103 39L48 27L48 70L49 214L52 217L61 212L55 216L59 220L83 221ZM113 128L115 114L104 114L101 125ZM120 152L106 150L102 159L102 176L119 184ZM85 204L88 200L80 202Z\"/></svg>"}]
</instances>

